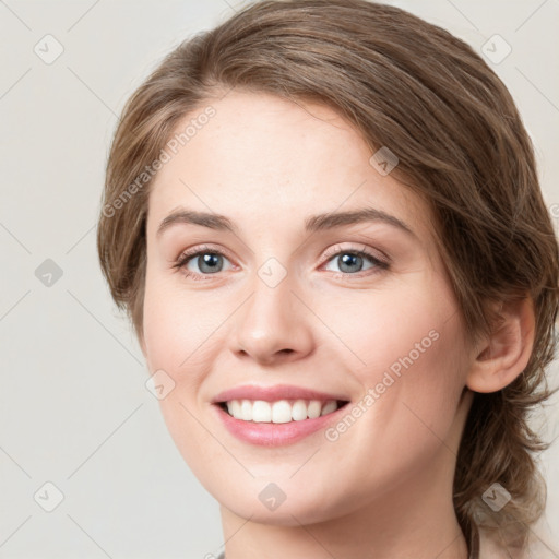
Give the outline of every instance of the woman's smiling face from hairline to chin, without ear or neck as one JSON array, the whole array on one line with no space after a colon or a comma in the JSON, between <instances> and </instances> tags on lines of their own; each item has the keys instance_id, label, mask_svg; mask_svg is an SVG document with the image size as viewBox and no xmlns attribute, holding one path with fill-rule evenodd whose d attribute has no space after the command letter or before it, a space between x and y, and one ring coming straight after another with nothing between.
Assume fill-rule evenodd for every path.
<instances>
[{"instance_id":1,"label":"woman's smiling face from hairline to chin, without ear or neck","mask_svg":"<svg viewBox=\"0 0 559 559\"><path fill-rule=\"evenodd\" d=\"M469 357L427 206L324 106L237 92L211 106L177 128L198 123L147 218L143 350L186 462L227 509L286 525L433 472L451 484ZM251 421L216 403L280 385L320 394L241 389L240 414L270 402ZM297 415L329 400L348 403Z\"/></svg>"}]
</instances>

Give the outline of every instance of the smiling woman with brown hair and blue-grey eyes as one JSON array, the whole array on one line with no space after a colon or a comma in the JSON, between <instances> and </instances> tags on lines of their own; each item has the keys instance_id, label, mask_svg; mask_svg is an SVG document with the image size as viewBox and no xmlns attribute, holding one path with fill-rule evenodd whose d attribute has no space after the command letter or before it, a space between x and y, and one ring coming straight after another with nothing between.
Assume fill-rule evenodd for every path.
<instances>
[{"instance_id":1,"label":"smiling woman with brown hair and blue-grey eyes","mask_svg":"<svg viewBox=\"0 0 559 559\"><path fill-rule=\"evenodd\" d=\"M463 41L361 0L185 41L124 108L98 251L227 559L552 552L558 245Z\"/></svg>"}]
</instances>

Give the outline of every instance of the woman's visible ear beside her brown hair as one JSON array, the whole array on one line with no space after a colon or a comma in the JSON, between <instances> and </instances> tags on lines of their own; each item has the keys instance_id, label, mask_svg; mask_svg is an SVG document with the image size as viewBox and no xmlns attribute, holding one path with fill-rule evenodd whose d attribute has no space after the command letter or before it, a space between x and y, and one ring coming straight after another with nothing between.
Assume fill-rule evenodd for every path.
<instances>
[{"instance_id":1,"label":"woman's visible ear beside her brown hair","mask_svg":"<svg viewBox=\"0 0 559 559\"><path fill-rule=\"evenodd\" d=\"M491 309L496 310L495 306ZM497 392L528 364L534 346L535 314L530 296L503 301L491 334L475 350L466 385L474 392Z\"/></svg>"}]
</instances>

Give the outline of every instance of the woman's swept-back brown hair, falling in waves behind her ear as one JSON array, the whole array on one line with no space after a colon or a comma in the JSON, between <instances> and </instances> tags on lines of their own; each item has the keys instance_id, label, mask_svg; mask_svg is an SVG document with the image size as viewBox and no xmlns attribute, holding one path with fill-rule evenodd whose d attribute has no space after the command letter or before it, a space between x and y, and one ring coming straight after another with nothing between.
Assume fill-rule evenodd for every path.
<instances>
[{"instance_id":1,"label":"woman's swept-back brown hair, falling in waves behind her ear","mask_svg":"<svg viewBox=\"0 0 559 559\"><path fill-rule=\"evenodd\" d=\"M524 546L545 507L533 452L548 445L528 414L552 393L545 368L556 344L559 259L533 146L507 87L447 31L365 0L262 1L179 45L124 107L97 231L111 295L140 338L150 177L140 186L138 177L179 120L233 87L319 100L372 152L396 154L393 176L432 209L468 340L490 331L489 302L533 299L530 361L504 389L475 394L453 495L466 537L475 525L498 526ZM498 513L481 500L493 483L512 496Z\"/></svg>"}]
</instances>

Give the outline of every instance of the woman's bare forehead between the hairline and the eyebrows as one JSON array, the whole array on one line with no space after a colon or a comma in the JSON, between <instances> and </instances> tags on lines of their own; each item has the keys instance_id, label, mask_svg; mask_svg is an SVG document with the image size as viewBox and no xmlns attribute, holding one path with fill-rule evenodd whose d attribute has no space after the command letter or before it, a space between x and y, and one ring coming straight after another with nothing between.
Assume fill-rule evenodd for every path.
<instances>
[{"instance_id":1,"label":"woman's bare forehead between the hairline and the eyebrows","mask_svg":"<svg viewBox=\"0 0 559 559\"><path fill-rule=\"evenodd\" d=\"M231 92L185 116L173 139L176 153L166 148L152 183L148 235L178 207L281 233L310 214L371 206L429 235L424 201L382 176L359 133L325 105Z\"/></svg>"}]
</instances>

